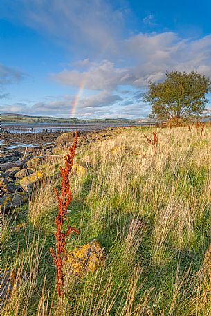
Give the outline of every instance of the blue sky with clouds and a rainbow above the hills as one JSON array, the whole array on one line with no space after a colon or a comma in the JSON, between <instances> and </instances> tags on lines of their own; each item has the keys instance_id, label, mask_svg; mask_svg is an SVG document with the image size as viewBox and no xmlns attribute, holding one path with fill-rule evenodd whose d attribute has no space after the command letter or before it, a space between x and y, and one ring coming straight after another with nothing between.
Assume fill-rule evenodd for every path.
<instances>
[{"instance_id":1,"label":"blue sky with clouds and a rainbow above the hills","mask_svg":"<svg viewBox=\"0 0 211 316\"><path fill-rule=\"evenodd\" d=\"M211 77L210 0L0 0L0 113L146 118L149 81Z\"/></svg>"}]
</instances>

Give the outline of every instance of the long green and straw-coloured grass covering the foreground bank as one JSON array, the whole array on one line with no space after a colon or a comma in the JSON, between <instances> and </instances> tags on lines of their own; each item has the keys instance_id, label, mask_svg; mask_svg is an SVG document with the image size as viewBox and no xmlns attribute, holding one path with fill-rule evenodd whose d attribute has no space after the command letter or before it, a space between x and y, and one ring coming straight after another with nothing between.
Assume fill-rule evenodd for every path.
<instances>
[{"instance_id":1,"label":"long green and straw-coloured grass covering the foreground bank","mask_svg":"<svg viewBox=\"0 0 211 316\"><path fill-rule=\"evenodd\" d=\"M75 162L86 161L86 174L71 177L68 217L80 235L67 248L95 238L107 259L79 281L66 271L64 297L57 296L49 252L57 165L48 166L54 177L35 190L29 212L1 218L1 270L27 276L2 316L211 315L211 128L202 136L195 128L158 129L156 155L144 136L152 138L152 131L123 129L77 149ZM27 227L13 232L24 222Z\"/></svg>"}]
</instances>

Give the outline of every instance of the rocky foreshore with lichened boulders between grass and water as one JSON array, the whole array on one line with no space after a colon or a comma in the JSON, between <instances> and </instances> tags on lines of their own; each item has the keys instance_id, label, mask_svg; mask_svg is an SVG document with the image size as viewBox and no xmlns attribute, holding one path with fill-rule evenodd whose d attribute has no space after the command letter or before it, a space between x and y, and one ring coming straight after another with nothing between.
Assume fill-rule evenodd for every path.
<instances>
[{"instance_id":1,"label":"rocky foreshore with lichened boulders between grass and water","mask_svg":"<svg viewBox=\"0 0 211 316\"><path fill-rule=\"evenodd\" d=\"M78 131L77 147L113 138L125 128ZM74 131L1 132L1 211L8 212L28 201L35 185L45 176L42 165L60 158L58 152L68 147L74 137Z\"/></svg>"}]
</instances>

